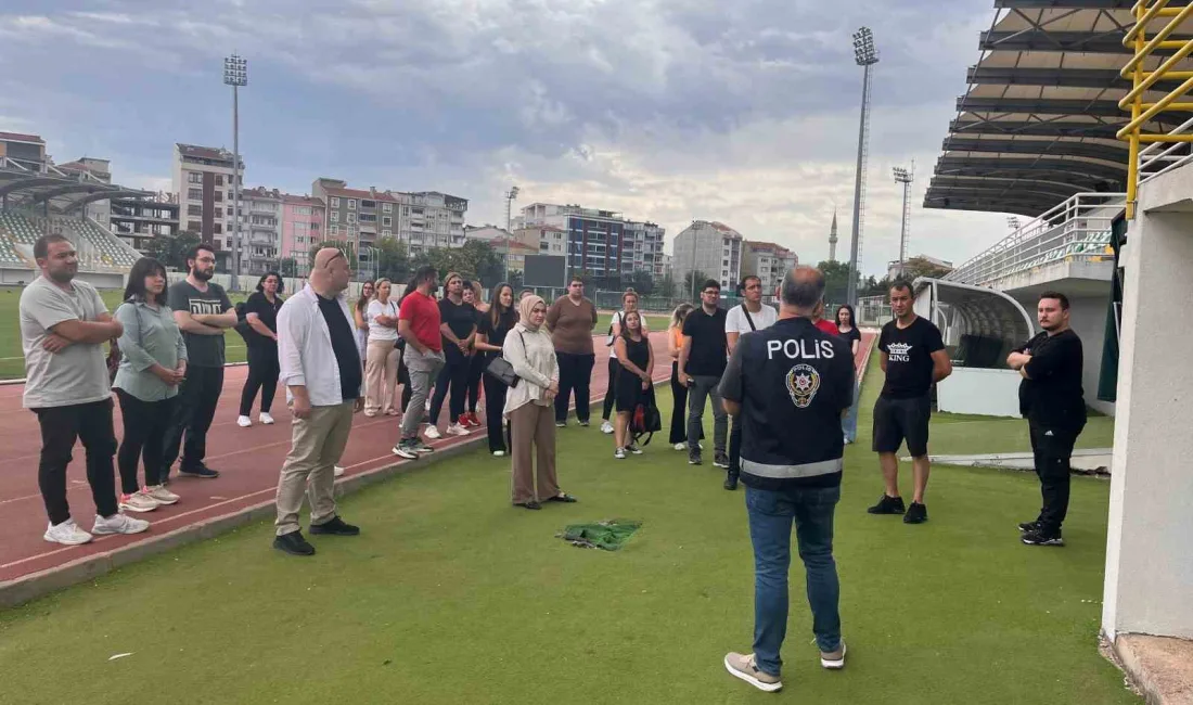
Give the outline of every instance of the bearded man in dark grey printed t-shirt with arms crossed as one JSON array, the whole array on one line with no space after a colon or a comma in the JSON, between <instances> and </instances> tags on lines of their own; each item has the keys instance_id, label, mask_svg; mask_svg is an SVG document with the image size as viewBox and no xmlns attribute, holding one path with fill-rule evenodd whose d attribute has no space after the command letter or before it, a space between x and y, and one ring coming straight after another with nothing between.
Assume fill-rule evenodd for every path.
<instances>
[{"instance_id":1,"label":"bearded man in dark grey printed t-shirt with arms crossed","mask_svg":"<svg viewBox=\"0 0 1193 705\"><path fill-rule=\"evenodd\" d=\"M174 421L166 432L162 468L169 472L181 446L178 474L211 480L220 472L203 460L208 454L208 429L223 390L224 330L236 324L236 311L223 287L211 283L216 253L210 245L196 245L186 255L186 266L190 273L169 287L167 301L186 341L190 364L179 388Z\"/></svg>"}]
</instances>

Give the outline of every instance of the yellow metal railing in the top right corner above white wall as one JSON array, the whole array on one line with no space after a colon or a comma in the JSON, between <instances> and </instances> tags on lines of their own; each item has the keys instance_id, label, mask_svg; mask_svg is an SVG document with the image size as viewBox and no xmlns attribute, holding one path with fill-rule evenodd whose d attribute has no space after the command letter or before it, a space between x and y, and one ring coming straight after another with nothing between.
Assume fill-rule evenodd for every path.
<instances>
[{"instance_id":1,"label":"yellow metal railing in the top right corner above white wall","mask_svg":"<svg viewBox=\"0 0 1193 705\"><path fill-rule=\"evenodd\" d=\"M1131 91L1119 100L1121 110L1131 111L1131 122L1124 125L1117 135L1119 140L1126 140L1130 144L1126 184L1127 218L1135 217L1139 184L1193 160L1193 154L1180 154L1187 151L1182 149L1182 144L1193 143L1193 131L1191 131L1193 119L1186 120L1164 134L1143 134L1143 126L1148 120L1166 110L1193 110L1193 103L1176 101L1177 98L1193 89L1193 70L1176 70L1177 64L1193 54L1193 39L1168 38L1182 21L1193 17L1193 4L1185 7L1166 7L1168 2L1169 0L1155 0L1155 2L1138 0L1131 8L1135 14L1135 26L1123 37L1123 45L1135 52L1119 72L1124 79L1131 79L1132 82ZM1168 21L1156 31L1151 39L1148 39L1148 24L1157 18L1168 18ZM1175 52L1155 70L1144 70L1144 62L1157 49L1175 50ZM1176 79L1185 79L1185 82L1155 103L1143 101L1143 94L1152 89L1158 81ZM1161 144L1166 143L1170 147L1161 149ZM1141 150L1141 144L1148 144L1148 147Z\"/></svg>"}]
</instances>

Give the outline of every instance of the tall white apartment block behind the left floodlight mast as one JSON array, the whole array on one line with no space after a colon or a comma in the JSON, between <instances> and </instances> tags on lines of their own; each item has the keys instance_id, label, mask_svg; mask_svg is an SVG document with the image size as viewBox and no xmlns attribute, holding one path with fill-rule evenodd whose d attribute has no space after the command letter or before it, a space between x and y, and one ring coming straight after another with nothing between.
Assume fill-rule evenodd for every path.
<instances>
[{"instance_id":1,"label":"tall white apartment block behind the left floodlight mast","mask_svg":"<svg viewBox=\"0 0 1193 705\"><path fill-rule=\"evenodd\" d=\"M234 165L227 149L174 144L172 168L183 229L194 233L217 251L220 266L231 256L234 181L245 183L245 160Z\"/></svg>"}]
</instances>

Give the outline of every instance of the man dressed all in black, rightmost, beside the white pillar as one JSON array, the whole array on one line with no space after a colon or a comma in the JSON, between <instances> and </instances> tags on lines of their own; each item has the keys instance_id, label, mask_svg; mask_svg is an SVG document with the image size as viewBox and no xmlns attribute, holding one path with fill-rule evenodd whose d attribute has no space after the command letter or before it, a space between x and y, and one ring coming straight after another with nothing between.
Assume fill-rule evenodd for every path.
<instances>
[{"instance_id":1,"label":"man dressed all in black, rightmost, beside the white pillar","mask_svg":"<svg viewBox=\"0 0 1193 705\"><path fill-rule=\"evenodd\" d=\"M1027 545L1063 546L1061 525L1069 512L1069 459L1086 427L1081 339L1069 327L1069 298L1063 293L1041 293L1037 319L1043 332L1007 357L1007 365L1024 378L1019 383L1019 412L1027 418L1044 497L1036 521L1025 521L1019 530Z\"/></svg>"}]
</instances>

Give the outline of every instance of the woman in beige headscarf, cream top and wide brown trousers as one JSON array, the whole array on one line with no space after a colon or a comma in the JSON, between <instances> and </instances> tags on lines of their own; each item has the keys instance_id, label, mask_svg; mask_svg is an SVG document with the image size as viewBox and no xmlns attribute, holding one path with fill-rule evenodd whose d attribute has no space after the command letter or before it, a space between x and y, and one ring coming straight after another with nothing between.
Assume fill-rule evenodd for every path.
<instances>
[{"instance_id":1,"label":"woman in beige headscarf, cream top and wide brown trousers","mask_svg":"<svg viewBox=\"0 0 1193 705\"><path fill-rule=\"evenodd\" d=\"M513 503L542 509L544 502L575 502L560 489L555 475L555 396L560 394L560 364L546 332L546 302L527 296L518 302L519 321L506 335L501 354L518 375L506 395L513 458ZM538 482L533 456L538 457Z\"/></svg>"}]
</instances>

